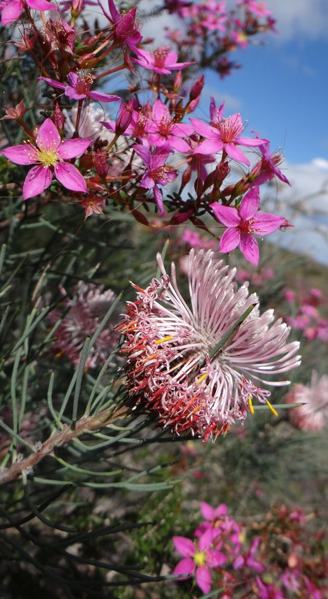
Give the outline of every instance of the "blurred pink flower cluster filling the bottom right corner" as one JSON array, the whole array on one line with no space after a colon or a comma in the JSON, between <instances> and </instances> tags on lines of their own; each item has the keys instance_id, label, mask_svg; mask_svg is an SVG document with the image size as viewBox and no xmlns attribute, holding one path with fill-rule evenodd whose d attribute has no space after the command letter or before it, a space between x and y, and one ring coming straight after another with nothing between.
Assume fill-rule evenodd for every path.
<instances>
[{"instance_id":1,"label":"blurred pink flower cluster filling the bottom right corner","mask_svg":"<svg viewBox=\"0 0 328 599\"><path fill-rule=\"evenodd\" d=\"M304 530L302 510L277 506L257 523L257 535L230 517L224 503L212 508L201 501L201 514L194 541L173 537L183 558L173 570L178 580L194 578L203 593L214 587L220 599L324 599L328 561L323 546L318 555L322 535Z\"/></svg>"}]
</instances>

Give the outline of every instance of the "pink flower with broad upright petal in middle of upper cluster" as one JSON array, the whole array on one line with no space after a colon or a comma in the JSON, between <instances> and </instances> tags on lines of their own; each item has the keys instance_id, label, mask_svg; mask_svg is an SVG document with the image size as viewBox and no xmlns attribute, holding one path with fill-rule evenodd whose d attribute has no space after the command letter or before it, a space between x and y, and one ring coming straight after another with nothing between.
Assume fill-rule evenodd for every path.
<instances>
[{"instance_id":1,"label":"pink flower with broad upright petal in middle of upper cluster","mask_svg":"<svg viewBox=\"0 0 328 599\"><path fill-rule=\"evenodd\" d=\"M174 123L171 115L162 100L156 100L152 109L153 123L155 125L154 133L150 133L148 138L152 145L162 147L170 145L178 152L188 152L190 146L182 139L193 133L192 125L186 123Z\"/></svg>"}]
</instances>

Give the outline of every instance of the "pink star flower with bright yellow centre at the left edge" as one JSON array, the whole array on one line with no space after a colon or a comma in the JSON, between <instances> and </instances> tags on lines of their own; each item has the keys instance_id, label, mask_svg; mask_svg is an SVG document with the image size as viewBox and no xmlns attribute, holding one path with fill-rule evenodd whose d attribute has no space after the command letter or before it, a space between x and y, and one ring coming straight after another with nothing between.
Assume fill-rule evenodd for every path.
<instances>
[{"instance_id":1,"label":"pink star flower with bright yellow centre at the left edge","mask_svg":"<svg viewBox=\"0 0 328 599\"><path fill-rule=\"evenodd\" d=\"M51 184L53 175L67 189L87 192L86 182L80 171L65 161L83 154L91 144L90 139L62 141L51 118L46 118L39 128L36 144L12 145L6 147L6 150L1 150L3 156L15 164L37 164L26 175L23 186L24 199L42 193Z\"/></svg>"}]
</instances>

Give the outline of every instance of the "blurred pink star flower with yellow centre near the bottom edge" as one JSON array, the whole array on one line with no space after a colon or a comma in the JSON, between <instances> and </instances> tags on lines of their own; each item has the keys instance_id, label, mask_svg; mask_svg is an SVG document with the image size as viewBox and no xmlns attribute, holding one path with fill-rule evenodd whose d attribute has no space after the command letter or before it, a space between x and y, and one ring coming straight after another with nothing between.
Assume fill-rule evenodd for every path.
<instances>
[{"instance_id":1,"label":"blurred pink star flower with yellow centre near the bottom edge","mask_svg":"<svg viewBox=\"0 0 328 599\"><path fill-rule=\"evenodd\" d=\"M186 537L173 537L173 542L176 551L183 557L183 560L176 564L173 574L181 574L183 579L194 575L199 589L203 593L209 593L212 582L210 568L219 568L227 561L224 553L211 548L210 528L199 537L197 543Z\"/></svg>"}]
</instances>

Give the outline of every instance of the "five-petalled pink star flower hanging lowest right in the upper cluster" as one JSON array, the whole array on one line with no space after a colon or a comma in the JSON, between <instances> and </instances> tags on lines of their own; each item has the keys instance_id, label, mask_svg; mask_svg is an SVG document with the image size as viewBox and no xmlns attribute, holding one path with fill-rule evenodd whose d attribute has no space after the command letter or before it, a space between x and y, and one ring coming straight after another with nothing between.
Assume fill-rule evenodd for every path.
<instances>
[{"instance_id":1,"label":"five-petalled pink star flower hanging lowest right in the upper cluster","mask_svg":"<svg viewBox=\"0 0 328 599\"><path fill-rule=\"evenodd\" d=\"M284 217L258 212L258 187L246 193L239 210L232 206L222 206L219 202L210 204L210 207L217 220L228 227L221 237L220 251L226 253L239 246L244 258L255 266L259 263L259 246L253 235L268 235L286 222Z\"/></svg>"}]
</instances>

